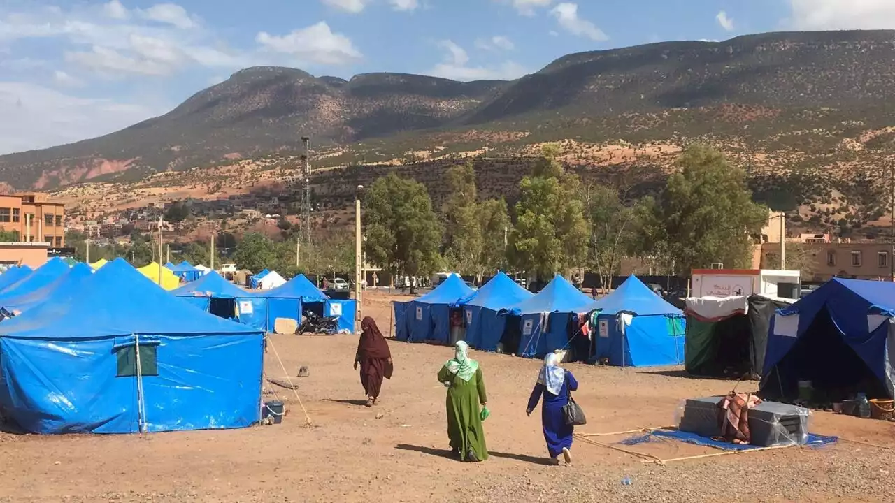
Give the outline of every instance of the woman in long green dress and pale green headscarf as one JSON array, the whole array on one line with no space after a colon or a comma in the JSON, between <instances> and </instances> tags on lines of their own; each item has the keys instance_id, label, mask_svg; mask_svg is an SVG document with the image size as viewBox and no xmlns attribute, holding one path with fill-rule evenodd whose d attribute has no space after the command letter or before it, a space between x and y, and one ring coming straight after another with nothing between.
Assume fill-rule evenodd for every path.
<instances>
[{"instance_id":1,"label":"woman in long green dress and pale green headscarf","mask_svg":"<svg viewBox=\"0 0 895 503\"><path fill-rule=\"evenodd\" d=\"M479 362L468 356L469 345L456 343L454 358L439 371L439 382L447 388L447 437L450 447L461 461L488 459L482 412L485 406L485 381Z\"/></svg>"}]
</instances>

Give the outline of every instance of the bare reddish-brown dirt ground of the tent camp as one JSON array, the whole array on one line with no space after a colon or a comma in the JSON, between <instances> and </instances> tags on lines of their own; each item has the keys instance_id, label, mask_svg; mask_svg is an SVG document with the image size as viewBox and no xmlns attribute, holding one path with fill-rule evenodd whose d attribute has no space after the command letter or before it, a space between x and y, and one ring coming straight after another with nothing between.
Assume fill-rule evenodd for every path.
<instances>
[{"instance_id":1,"label":"bare reddish-brown dirt ground of the tent camp","mask_svg":"<svg viewBox=\"0 0 895 503\"><path fill-rule=\"evenodd\" d=\"M385 331L388 298L368 294L365 309ZM546 465L540 417L524 413L540 362L481 352L473 358L488 388L491 457L462 464L448 457L445 389L435 379L451 349L391 342L394 379L379 404L366 408L352 369L356 342L271 336L268 378L288 374L299 383L310 428L294 393L268 384L287 404L279 425L142 436L0 434L0 502L891 500L895 425L831 413L814 413L811 430L889 449L840 441L660 466L576 439L571 466ZM300 365L310 366L310 377L294 377ZM681 399L734 385L690 379L679 368L567 367L588 419L579 432L669 425ZM625 447L618 442L629 436L597 439ZM676 441L631 449L663 459L718 452Z\"/></svg>"}]
</instances>

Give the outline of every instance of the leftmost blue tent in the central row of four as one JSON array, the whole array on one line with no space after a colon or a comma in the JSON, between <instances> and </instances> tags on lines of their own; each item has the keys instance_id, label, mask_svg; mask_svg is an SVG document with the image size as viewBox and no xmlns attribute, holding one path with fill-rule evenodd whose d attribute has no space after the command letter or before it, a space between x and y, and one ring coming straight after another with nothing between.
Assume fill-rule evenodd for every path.
<instances>
[{"instance_id":1,"label":"leftmost blue tent in the central row of four","mask_svg":"<svg viewBox=\"0 0 895 503\"><path fill-rule=\"evenodd\" d=\"M474 290L456 274L448 276L430 293L406 303L395 303L397 340L422 342L450 341L450 310L472 296Z\"/></svg>"}]
</instances>

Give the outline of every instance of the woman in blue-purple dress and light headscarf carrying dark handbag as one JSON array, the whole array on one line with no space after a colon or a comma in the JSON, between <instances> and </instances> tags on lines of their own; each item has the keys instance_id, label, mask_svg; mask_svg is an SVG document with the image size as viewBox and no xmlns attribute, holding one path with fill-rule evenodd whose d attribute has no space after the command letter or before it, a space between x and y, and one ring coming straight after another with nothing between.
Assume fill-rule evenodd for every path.
<instances>
[{"instance_id":1,"label":"woman in blue-purple dress and light headscarf carrying dark handbag","mask_svg":"<svg viewBox=\"0 0 895 503\"><path fill-rule=\"evenodd\" d=\"M550 453L550 458L558 464L559 456L563 456L566 463L572 462L570 449L574 427L566 424L562 408L568 404L569 391L578 389L578 381L572 372L560 367L557 360L557 355L553 353L544 358L544 366L538 374L538 383L534 385L525 413L532 415L534 407L537 407L538 401L541 400L541 395L544 396L544 403L541 405L544 439L547 440L547 452Z\"/></svg>"}]
</instances>

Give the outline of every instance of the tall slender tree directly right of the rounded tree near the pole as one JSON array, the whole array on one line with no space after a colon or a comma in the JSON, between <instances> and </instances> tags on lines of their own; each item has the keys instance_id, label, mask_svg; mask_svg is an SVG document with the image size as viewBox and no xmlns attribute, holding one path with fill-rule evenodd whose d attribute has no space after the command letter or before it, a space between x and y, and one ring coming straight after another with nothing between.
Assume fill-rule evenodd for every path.
<instances>
[{"instance_id":1,"label":"tall slender tree directly right of the rounded tree near the pole","mask_svg":"<svg viewBox=\"0 0 895 503\"><path fill-rule=\"evenodd\" d=\"M480 274L482 266L482 222L475 188L473 164L447 170L445 257L448 267L461 274Z\"/></svg>"}]
</instances>

